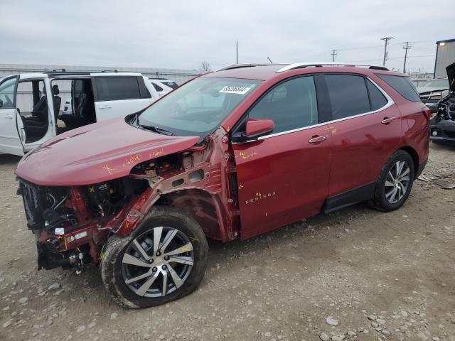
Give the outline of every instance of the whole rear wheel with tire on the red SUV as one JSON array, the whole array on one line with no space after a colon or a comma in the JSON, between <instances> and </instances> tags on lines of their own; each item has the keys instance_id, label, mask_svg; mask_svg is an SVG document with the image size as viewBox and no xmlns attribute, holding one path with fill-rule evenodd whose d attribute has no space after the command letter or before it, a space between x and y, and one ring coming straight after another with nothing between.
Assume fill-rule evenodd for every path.
<instances>
[{"instance_id":1,"label":"whole rear wheel with tire on the red SUV","mask_svg":"<svg viewBox=\"0 0 455 341\"><path fill-rule=\"evenodd\" d=\"M410 154L396 151L382 168L370 205L383 212L397 210L409 197L414 176L414 161Z\"/></svg>"}]
</instances>

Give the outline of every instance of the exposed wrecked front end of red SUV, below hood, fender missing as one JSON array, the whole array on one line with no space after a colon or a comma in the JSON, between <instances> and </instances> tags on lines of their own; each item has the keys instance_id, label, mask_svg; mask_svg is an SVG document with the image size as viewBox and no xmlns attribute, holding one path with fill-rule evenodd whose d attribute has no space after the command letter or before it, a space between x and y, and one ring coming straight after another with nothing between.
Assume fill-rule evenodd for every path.
<instances>
[{"instance_id":1,"label":"exposed wrecked front end of red SUV, below hood, fender missing","mask_svg":"<svg viewBox=\"0 0 455 341\"><path fill-rule=\"evenodd\" d=\"M207 237L235 239L237 184L226 141L218 129L200 147L156 153L146 161L142 153L127 156L129 175L101 183L45 186L19 177L18 194L36 236L38 269L62 266L80 272L88 262L97 264L108 237L131 234L153 205L187 212Z\"/></svg>"}]
</instances>

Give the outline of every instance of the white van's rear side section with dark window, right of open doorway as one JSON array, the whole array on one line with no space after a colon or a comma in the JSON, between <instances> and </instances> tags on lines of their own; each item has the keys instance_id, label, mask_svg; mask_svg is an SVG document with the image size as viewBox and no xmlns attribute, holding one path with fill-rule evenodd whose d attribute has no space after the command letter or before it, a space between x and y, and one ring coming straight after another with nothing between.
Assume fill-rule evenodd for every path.
<instances>
[{"instance_id":1,"label":"white van's rear side section with dark window, right of open doorway","mask_svg":"<svg viewBox=\"0 0 455 341\"><path fill-rule=\"evenodd\" d=\"M92 75L92 85L97 121L126 116L151 103L142 76Z\"/></svg>"}]
</instances>

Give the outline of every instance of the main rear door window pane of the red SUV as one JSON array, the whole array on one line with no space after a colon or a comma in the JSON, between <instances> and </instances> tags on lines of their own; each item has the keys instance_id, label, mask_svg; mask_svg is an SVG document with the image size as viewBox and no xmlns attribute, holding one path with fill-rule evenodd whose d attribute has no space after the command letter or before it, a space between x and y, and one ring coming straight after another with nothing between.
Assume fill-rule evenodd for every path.
<instances>
[{"instance_id":1,"label":"main rear door window pane of the red SUV","mask_svg":"<svg viewBox=\"0 0 455 341\"><path fill-rule=\"evenodd\" d=\"M362 76L326 75L332 119L344 119L370 112L367 87Z\"/></svg>"}]
</instances>

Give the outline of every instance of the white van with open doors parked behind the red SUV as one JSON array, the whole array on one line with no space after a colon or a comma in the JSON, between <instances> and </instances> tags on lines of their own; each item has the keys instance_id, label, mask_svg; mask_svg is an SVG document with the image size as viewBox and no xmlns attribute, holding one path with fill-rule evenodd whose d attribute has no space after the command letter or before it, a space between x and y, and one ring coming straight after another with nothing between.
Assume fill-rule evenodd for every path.
<instances>
[{"instance_id":1,"label":"white van with open doors parked behind the red SUV","mask_svg":"<svg viewBox=\"0 0 455 341\"><path fill-rule=\"evenodd\" d=\"M62 97L63 103L70 103L64 112L60 112ZM0 153L22 156L53 136L138 112L158 98L140 73L53 70L4 77Z\"/></svg>"}]
</instances>

